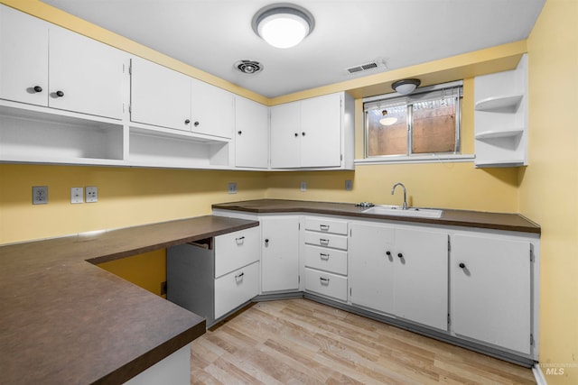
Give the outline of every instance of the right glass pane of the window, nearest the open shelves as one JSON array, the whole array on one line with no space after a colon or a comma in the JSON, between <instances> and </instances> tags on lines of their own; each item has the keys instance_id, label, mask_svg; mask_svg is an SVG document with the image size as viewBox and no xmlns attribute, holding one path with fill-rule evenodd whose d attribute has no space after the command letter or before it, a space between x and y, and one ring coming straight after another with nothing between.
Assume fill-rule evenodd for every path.
<instances>
[{"instance_id":1,"label":"right glass pane of the window, nearest the open shelves","mask_svg":"<svg viewBox=\"0 0 578 385\"><path fill-rule=\"evenodd\" d=\"M413 153L455 151L454 97L414 103L412 113Z\"/></svg>"}]
</instances>

